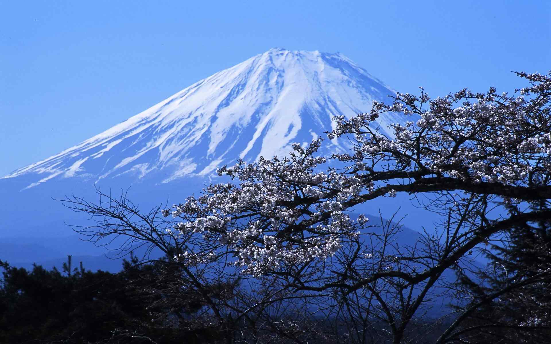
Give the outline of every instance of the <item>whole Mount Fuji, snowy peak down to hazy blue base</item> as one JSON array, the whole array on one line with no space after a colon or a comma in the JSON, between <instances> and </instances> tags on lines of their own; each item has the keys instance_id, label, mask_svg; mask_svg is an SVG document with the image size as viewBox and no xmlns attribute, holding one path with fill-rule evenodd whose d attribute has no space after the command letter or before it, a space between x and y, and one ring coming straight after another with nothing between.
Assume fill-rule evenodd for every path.
<instances>
[{"instance_id":1,"label":"whole Mount Fuji, snowy peak down to hazy blue base","mask_svg":"<svg viewBox=\"0 0 551 344\"><path fill-rule=\"evenodd\" d=\"M237 159L287 155L291 144L309 143L331 130L333 116L368 112L373 100L387 101L393 94L340 53L271 49L258 54L0 178L0 259L6 247L13 253L11 263L21 264L51 261L52 252L60 253L59 261L65 254L105 252L83 245L64 225L93 223L52 198L74 194L95 201L95 188L113 190L115 196L132 185L128 198L142 211L179 203L201 192L216 168ZM406 118L390 114L379 121L383 131ZM346 145L345 140L327 140L320 154L342 151Z\"/></svg>"}]
</instances>

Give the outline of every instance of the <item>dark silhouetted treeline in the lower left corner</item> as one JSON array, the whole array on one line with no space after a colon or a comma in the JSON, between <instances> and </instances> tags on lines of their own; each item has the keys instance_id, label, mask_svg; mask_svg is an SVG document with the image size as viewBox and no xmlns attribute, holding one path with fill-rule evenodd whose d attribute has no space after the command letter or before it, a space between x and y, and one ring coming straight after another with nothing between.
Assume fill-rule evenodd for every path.
<instances>
[{"instance_id":1,"label":"dark silhouetted treeline in the lower left corner","mask_svg":"<svg viewBox=\"0 0 551 344\"><path fill-rule=\"evenodd\" d=\"M203 343L219 336L201 316L190 317L203 304L163 261L141 265L131 257L118 274L73 267L71 256L62 271L0 263L0 343Z\"/></svg>"}]
</instances>

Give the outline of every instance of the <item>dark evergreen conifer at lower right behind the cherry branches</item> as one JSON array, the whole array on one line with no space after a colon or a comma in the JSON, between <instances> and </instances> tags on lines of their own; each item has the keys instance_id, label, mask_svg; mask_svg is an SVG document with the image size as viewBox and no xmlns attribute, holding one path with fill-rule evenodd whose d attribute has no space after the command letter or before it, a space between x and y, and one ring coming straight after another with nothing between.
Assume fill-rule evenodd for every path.
<instances>
[{"instance_id":1,"label":"dark evergreen conifer at lower right behind the cherry branches","mask_svg":"<svg viewBox=\"0 0 551 344\"><path fill-rule=\"evenodd\" d=\"M548 208L542 203L538 208ZM543 343L551 338L551 221L523 223L493 245L489 269L461 276L472 312L455 336L463 343Z\"/></svg>"}]
</instances>

